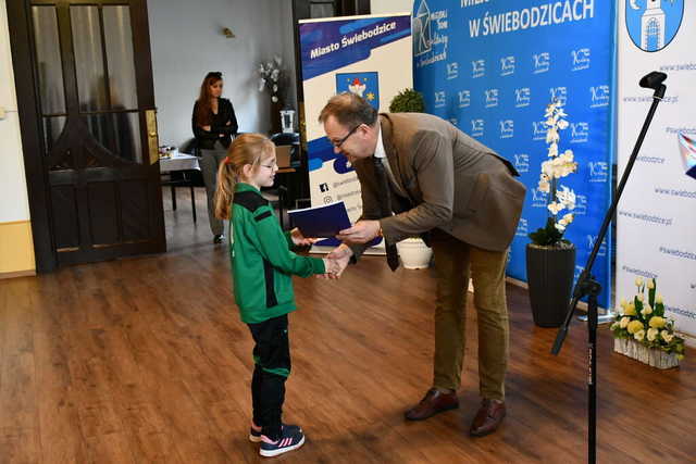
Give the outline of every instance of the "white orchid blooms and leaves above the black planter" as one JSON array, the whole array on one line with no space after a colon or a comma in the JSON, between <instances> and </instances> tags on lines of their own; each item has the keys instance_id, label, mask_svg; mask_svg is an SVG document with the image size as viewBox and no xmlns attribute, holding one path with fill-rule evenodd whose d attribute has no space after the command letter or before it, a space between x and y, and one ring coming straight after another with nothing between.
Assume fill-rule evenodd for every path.
<instances>
[{"instance_id":1,"label":"white orchid blooms and leaves above the black planter","mask_svg":"<svg viewBox=\"0 0 696 464\"><path fill-rule=\"evenodd\" d=\"M549 215L545 227L530 234L532 241L538 246L570 244L570 241L563 238L563 234L574 218L570 211L575 209L575 192L567 186L560 185L559 179L576 172L577 163L573 159L572 150L568 149L561 153L558 148L560 130L569 126L567 116L563 103L556 99L546 106L544 124L547 127L548 160L542 163L537 188L539 191L548 193L546 208ZM568 212L561 215L563 210Z\"/></svg>"}]
</instances>

